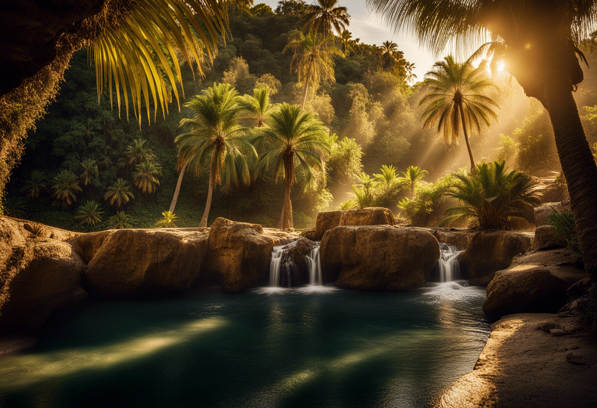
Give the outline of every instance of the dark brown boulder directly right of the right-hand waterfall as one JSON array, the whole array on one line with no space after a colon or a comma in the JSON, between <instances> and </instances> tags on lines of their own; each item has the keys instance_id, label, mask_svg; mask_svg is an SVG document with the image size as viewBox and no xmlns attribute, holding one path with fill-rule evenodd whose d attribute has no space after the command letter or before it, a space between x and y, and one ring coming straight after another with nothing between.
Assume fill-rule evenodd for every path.
<instances>
[{"instance_id":1,"label":"dark brown boulder directly right of the right-hand waterfall","mask_svg":"<svg viewBox=\"0 0 597 408\"><path fill-rule=\"evenodd\" d=\"M507 231L478 231L458 255L460 274L470 285L486 286L496 271L506 269L516 255L531 248L531 236Z\"/></svg>"}]
</instances>

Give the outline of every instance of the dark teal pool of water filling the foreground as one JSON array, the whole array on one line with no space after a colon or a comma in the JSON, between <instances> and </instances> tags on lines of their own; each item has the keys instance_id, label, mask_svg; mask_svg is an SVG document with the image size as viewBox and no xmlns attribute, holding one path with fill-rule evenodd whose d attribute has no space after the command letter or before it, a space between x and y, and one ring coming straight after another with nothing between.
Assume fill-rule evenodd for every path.
<instances>
[{"instance_id":1,"label":"dark teal pool of water filling the foreground","mask_svg":"<svg viewBox=\"0 0 597 408\"><path fill-rule=\"evenodd\" d=\"M485 289L106 302L0 360L0 406L425 407L472 370Z\"/></svg>"}]
</instances>

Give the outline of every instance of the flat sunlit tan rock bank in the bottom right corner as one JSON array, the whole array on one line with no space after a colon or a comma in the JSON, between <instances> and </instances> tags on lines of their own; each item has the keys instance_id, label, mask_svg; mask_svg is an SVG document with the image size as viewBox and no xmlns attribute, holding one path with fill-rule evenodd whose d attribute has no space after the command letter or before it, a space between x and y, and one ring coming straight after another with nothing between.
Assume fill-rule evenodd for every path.
<instances>
[{"instance_id":1,"label":"flat sunlit tan rock bank in the bottom right corner","mask_svg":"<svg viewBox=\"0 0 597 408\"><path fill-rule=\"evenodd\" d=\"M443 390L433 406L597 406L597 344L592 336L577 333L554 337L536 329L554 321L567 325L567 320L570 319L555 314L524 313L503 317L492 324L487 344L472 372Z\"/></svg>"}]
</instances>

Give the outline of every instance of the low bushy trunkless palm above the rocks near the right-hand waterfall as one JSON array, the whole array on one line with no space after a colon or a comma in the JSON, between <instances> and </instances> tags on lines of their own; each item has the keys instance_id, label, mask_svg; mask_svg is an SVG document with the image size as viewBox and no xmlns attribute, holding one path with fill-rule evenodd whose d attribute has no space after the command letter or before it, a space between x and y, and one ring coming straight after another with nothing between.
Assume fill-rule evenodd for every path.
<instances>
[{"instance_id":1,"label":"low bushy trunkless palm above the rocks near the right-hand waterfall","mask_svg":"<svg viewBox=\"0 0 597 408\"><path fill-rule=\"evenodd\" d=\"M448 208L452 215L441 225L473 218L481 230L503 229L510 217L520 214L518 203L540 204L537 186L518 171L507 172L505 163L479 163L475 174L454 174L458 183L446 195L461 205Z\"/></svg>"}]
</instances>

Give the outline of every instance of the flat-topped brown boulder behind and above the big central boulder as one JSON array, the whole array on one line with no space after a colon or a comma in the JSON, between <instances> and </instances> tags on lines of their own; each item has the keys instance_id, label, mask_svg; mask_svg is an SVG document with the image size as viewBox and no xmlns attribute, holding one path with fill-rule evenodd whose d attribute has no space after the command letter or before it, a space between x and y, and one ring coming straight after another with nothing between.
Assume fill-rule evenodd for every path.
<instances>
[{"instance_id":1,"label":"flat-topped brown boulder behind and above the big central boulder","mask_svg":"<svg viewBox=\"0 0 597 408\"><path fill-rule=\"evenodd\" d=\"M315 221L315 235L309 239L319 241L325 231L339 225L394 225L394 214L387 208L370 207L346 211L320 212Z\"/></svg>"}]
</instances>

